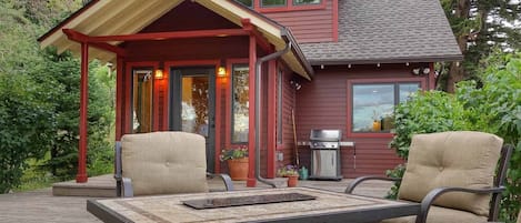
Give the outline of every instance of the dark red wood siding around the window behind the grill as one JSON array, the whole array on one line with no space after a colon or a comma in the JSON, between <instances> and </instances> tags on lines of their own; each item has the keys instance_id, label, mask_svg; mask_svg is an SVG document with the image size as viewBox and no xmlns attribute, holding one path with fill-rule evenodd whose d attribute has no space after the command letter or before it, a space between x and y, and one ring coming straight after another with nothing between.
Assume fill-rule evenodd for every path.
<instances>
[{"instance_id":1,"label":"dark red wood siding around the window behind the grill","mask_svg":"<svg viewBox=\"0 0 521 223\"><path fill-rule=\"evenodd\" d=\"M357 79L410 79L414 64L325 67L315 68L317 74L311 82L303 82L297 91L297 130L299 141L308 141L311 129L340 129L342 141L352 141L357 149L354 169L353 148L342 148L341 165L344 178L375 174L383 175L385 170L393 169L403 161L399 159L388 144L391 136L382 138L348 138L348 80ZM429 78L425 75L427 81ZM301 162L310 166L309 146L300 146Z\"/></svg>"}]
</instances>

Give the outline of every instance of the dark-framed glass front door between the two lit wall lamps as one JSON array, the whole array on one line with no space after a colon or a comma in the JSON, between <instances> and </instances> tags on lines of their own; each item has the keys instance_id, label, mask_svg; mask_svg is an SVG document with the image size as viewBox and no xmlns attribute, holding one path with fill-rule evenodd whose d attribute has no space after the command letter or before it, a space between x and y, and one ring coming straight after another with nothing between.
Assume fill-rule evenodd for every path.
<instances>
[{"instance_id":1,"label":"dark-framed glass front door between the two lit wall lamps","mask_svg":"<svg viewBox=\"0 0 521 223\"><path fill-rule=\"evenodd\" d=\"M171 68L170 129L207 139L207 169L214 172L216 68Z\"/></svg>"}]
</instances>

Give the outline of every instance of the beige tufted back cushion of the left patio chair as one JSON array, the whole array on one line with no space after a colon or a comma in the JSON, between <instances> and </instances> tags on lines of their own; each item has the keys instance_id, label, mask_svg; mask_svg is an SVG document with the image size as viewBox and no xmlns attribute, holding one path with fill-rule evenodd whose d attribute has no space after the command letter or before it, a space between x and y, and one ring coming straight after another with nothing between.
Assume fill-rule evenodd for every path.
<instances>
[{"instance_id":1,"label":"beige tufted back cushion of the left patio chair","mask_svg":"<svg viewBox=\"0 0 521 223\"><path fill-rule=\"evenodd\" d=\"M122 175L134 195L208 192L204 138L187 132L126 134Z\"/></svg>"}]
</instances>

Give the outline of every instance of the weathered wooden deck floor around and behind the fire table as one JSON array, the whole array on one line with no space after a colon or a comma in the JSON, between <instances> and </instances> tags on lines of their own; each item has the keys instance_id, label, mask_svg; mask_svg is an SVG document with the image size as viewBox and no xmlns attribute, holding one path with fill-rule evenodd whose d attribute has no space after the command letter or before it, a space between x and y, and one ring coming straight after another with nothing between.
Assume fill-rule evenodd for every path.
<instances>
[{"instance_id":1,"label":"weathered wooden deck floor around and behind the fire table","mask_svg":"<svg viewBox=\"0 0 521 223\"><path fill-rule=\"evenodd\" d=\"M277 179L280 184L284 184L283 179ZM318 187L343 192L351 180L342 181L299 181L299 186ZM256 190L269 187L260 184L259 187L246 187L244 181L237 181L236 190ZM0 194L0 222L1 223L99 223L100 221L87 212L88 199L98 199L103 195L114 194L114 182L111 175L90 178L89 183L78 185L76 182L63 182L54 184L53 189L38 191ZM219 183L211 182L210 187L219 187ZM391 186L389 182L371 182L360 185L358 194L383 196ZM102 191L102 192L100 192ZM79 196L88 192L91 196ZM96 193L98 194L96 194ZM62 195L52 195L61 193ZM67 193L74 196L64 196Z\"/></svg>"}]
</instances>

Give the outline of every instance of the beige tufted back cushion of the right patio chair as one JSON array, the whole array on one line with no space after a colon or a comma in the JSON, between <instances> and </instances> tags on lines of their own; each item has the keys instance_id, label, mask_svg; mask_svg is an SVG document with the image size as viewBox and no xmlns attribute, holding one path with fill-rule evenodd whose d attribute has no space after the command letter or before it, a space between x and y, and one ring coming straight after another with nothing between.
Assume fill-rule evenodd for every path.
<instances>
[{"instance_id":1,"label":"beige tufted back cushion of the right patio chair","mask_svg":"<svg viewBox=\"0 0 521 223\"><path fill-rule=\"evenodd\" d=\"M398 197L421 202L435 187L493 185L503 140L482 132L442 132L412 138ZM490 195L447 193L434 204L488 216Z\"/></svg>"}]
</instances>

